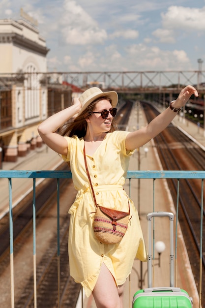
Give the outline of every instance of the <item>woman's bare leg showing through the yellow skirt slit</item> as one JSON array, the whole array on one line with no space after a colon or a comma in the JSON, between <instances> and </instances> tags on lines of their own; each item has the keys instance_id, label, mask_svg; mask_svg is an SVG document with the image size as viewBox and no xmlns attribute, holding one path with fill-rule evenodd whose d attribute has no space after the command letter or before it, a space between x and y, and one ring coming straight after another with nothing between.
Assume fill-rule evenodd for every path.
<instances>
[{"instance_id":1,"label":"woman's bare leg showing through the yellow skirt slit","mask_svg":"<svg viewBox=\"0 0 205 308\"><path fill-rule=\"evenodd\" d=\"M92 291L97 308L123 308L122 291L123 286L117 289L112 274L103 263L99 277Z\"/></svg>"}]
</instances>

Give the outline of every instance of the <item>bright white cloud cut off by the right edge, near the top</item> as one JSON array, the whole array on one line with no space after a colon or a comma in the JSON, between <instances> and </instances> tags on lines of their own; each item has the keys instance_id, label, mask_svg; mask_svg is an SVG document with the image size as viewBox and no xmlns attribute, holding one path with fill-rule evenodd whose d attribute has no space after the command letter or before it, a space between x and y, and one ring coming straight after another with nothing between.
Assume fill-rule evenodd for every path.
<instances>
[{"instance_id":1,"label":"bright white cloud cut off by the right edge, near the top","mask_svg":"<svg viewBox=\"0 0 205 308\"><path fill-rule=\"evenodd\" d=\"M170 6L167 13L162 13L162 25L167 29L183 31L205 31L205 7L191 8Z\"/></svg>"}]
</instances>

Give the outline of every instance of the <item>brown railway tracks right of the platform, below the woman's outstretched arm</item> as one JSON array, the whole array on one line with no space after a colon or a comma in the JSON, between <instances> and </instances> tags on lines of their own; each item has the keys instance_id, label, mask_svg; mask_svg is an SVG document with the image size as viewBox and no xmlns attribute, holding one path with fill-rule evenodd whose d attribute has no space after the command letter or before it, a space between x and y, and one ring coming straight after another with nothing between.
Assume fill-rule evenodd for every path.
<instances>
[{"instance_id":1,"label":"brown railway tracks right of the platform, below the woman's outstretched arm","mask_svg":"<svg viewBox=\"0 0 205 308\"><path fill-rule=\"evenodd\" d=\"M158 114L150 104L142 103L147 122ZM170 124L167 129L154 138L155 147L164 170L205 170L205 152L177 127ZM168 180L168 185L176 206L177 180ZM201 219L201 180L182 179L179 182L178 218L189 255L196 285L199 285L200 273L200 219ZM205 230L205 210L203 211ZM205 238L203 246L205 245ZM205 293L205 257L203 256L202 285ZM199 291L199 290L198 290ZM205 307L205 297L202 299Z\"/></svg>"}]
</instances>

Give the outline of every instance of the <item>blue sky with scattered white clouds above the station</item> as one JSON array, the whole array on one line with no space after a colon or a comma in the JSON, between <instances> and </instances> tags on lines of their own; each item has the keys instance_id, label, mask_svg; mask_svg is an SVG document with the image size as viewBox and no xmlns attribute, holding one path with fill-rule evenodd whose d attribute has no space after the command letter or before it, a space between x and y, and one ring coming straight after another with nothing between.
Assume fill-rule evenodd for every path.
<instances>
[{"instance_id":1,"label":"blue sky with scattered white clouds above the station","mask_svg":"<svg viewBox=\"0 0 205 308\"><path fill-rule=\"evenodd\" d=\"M0 0L46 39L48 71L198 70L205 65L205 0Z\"/></svg>"}]
</instances>

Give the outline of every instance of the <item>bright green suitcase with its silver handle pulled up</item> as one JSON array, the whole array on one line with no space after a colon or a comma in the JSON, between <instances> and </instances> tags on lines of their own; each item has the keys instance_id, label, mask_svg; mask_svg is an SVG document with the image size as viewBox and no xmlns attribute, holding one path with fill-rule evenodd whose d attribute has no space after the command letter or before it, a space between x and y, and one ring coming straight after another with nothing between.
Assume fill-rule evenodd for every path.
<instances>
[{"instance_id":1,"label":"bright green suitcase with its silver handle pulled up","mask_svg":"<svg viewBox=\"0 0 205 308\"><path fill-rule=\"evenodd\" d=\"M152 217L168 216L170 219L170 287L152 287L151 220ZM135 293L133 308L192 308L192 298L180 288L174 287L174 214L153 212L147 215L148 221L148 288Z\"/></svg>"}]
</instances>

